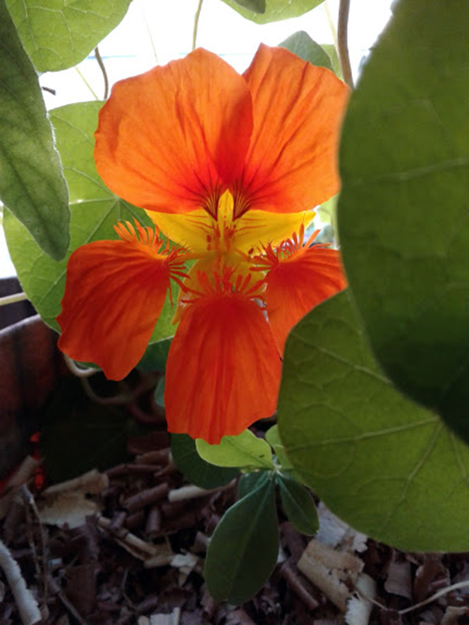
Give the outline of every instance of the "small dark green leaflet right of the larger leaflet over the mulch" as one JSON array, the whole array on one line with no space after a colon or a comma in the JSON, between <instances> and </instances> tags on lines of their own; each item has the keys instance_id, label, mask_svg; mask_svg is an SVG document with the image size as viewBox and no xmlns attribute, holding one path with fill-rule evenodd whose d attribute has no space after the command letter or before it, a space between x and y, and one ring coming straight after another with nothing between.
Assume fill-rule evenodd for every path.
<instances>
[{"instance_id":1,"label":"small dark green leaflet right of the larger leaflet over the mulch","mask_svg":"<svg viewBox=\"0 0 469 625\"><path fill-rule=\"evenodd\" d=\"M288 476L277 474L281 505L293 527L307 536L319 530L319 519L314 500L306 488Z\"/></svg>"}]
</instances>

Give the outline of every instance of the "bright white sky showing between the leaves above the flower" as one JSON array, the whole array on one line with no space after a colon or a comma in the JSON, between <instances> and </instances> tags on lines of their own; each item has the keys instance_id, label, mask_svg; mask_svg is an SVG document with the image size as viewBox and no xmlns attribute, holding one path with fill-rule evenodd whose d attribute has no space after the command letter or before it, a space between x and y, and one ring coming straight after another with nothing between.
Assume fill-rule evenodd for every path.
<instances>
[{"instance_id":1,"label":"bright white sky showing between the leaves above the flower","mask_svg":"<svg viewBox=\"0 0 469 625\"><path fill-rule=\"evenodd\" d=\"M121 24L99 44L111 84L188 54L197 4L198 0L133 0ZM391 16L391 4L392 0L351 0L348 44L355 78L360 62ZM197 46L219 54L242 72L261 42L274 46L298 30L305 30L319 44L334 43L327 13L336 27L338 11L339 0L327 0L300 18L257 25L221 0L204 0ZM103 97L104 82L94 54L78 70L41 76L42 86L56 90L56 95L43 92L48 109ZM0 278L14 273L0 229Z\"/></svg>"}]
</instances>

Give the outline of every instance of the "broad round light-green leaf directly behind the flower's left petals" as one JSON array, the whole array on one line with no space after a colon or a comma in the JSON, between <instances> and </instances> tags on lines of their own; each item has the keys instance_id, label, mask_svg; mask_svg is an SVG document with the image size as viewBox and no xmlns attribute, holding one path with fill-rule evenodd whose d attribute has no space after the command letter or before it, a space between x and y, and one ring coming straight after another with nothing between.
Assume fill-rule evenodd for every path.
<instances>
[{"instance_id":1,"label":"broad round light-green leaf directly behind the flower's left petals","mask_svg":"<svg viewBox=\"0 0 469 625\"><path fill-rule=\"evenodd\" d=\"M119 220L133 222L136 218L142 224L151 225L145 211L114 195L97 174L93 159L93 135L97 128L100 106L99 102L83 102L63 106L51 112L56 143L70 192L71 244L68 256L87 242L116 239L113 226ZM11 215L6 215L4 226L11 259L25 293L44 321L59 330L55 319L61 310L68 256L59 263L51 261L28 235L23 225ZM154 329L152 341L173 335L173 313L174 307L168 297Z\"/></svg>"}]
</instances>

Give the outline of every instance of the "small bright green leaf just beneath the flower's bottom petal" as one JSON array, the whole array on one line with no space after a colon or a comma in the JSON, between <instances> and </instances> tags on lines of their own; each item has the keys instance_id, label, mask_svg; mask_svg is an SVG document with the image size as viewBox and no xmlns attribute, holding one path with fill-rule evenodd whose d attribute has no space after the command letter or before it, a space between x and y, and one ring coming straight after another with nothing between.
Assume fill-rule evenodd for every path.
<instances>
[{"instance_id":1,"label":"small bright green leaf just beneath the flower's bottom petal","mask_svg":"<svg viewBox=\"0 0 469 625\"><path fill-rule=\"evenodd\" d=\"M197 438L197 452L210 464L243 468L273 469L272 452L268 443L250 430L238 436L224 436L219 445L209 445Z\"/></svg>"}]
</instances>

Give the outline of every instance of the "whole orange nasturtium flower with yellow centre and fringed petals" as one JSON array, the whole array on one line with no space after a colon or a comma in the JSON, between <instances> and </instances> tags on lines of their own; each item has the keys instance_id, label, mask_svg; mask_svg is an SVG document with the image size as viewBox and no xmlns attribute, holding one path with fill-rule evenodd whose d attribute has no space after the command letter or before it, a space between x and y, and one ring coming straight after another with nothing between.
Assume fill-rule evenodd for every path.
<instances>
[{"instance_id":1,"label":"whole orange nasturtium flower with yellow centre and fringed petals","mask_svg":"<svg viewBox=\"0 0 469 625\"><path fill-rule=\"evenodd\" d=\"M197 49L118 82L97 171L154 228L119 223L118 240L73 252L63 352L123 378L169 295L169 431L214 444L272 415L288 332L346 284L339 252L305 228L339 191L347 97L331 71L264 45L243 75Z\"/></svg>"}]
</instances>

